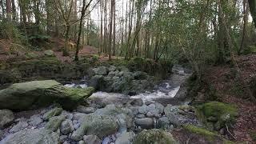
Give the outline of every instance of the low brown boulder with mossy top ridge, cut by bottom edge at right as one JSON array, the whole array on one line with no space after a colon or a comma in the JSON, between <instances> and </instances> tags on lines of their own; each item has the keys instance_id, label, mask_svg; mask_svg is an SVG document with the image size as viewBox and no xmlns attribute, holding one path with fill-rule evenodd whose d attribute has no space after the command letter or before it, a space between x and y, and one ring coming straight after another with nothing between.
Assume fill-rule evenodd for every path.
<instances>
[{"instance_id":1,"label":"low brown boulder with mossy top ridge, cut by bottom edge at right","mask_svg":"<svg viewBox=\"0 0 256 144\"><path fill-rule=\"evenodd\" d=\"M232 144L229 140L222 138L220 135L215 134L212 131L193 126L186 125L183 126L182 129L174 130L174 137L180 143L187 144L204 144L204 143L212 143L212 144Z\"/></svg>"}]
</instances>

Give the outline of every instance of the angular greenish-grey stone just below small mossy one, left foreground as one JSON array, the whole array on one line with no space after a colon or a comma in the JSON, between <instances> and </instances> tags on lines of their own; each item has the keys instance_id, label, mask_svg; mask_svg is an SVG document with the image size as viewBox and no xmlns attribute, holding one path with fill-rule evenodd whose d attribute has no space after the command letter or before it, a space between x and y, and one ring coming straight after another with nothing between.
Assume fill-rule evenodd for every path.
<instances>
[{"instance_id":1,"label":"angular greenish-grey stone just below small mossy one, left foreground","mask_svg":"<svg viewBox=\"0 0 256 144\"><path fill-rule=\"evenodd\" d=\"M62 122L65 120L65 116L56 116L49 119L49 122L46 123L45 129L56 131L58 130L59 126L61 126Z\"/></svg>"}]
</instances>

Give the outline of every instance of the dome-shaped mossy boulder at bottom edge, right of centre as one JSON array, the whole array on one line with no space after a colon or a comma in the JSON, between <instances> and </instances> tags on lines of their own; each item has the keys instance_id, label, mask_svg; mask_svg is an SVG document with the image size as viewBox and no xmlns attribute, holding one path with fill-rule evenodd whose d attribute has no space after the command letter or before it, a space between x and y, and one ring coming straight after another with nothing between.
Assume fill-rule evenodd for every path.
<instances>
[{"instance_id":1,"label":"dome-shaped mossy boulder at bottom edge, right of centre","mask_svg":"<svg viewBox=\"0 0 256 144\"><path fill-rule=\"evenodd\" d=\"M172 134L158 129L143 130L135 139L134 144L176 144Z\"/></svg>"}]
</instances>

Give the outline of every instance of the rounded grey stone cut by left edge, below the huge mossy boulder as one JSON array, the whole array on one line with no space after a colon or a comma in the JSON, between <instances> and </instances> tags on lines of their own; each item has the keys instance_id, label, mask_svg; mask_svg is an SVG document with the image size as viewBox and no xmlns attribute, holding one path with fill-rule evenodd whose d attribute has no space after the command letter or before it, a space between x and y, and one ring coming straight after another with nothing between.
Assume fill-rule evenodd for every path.
<instances>
[{"instance_id":1,"label":"rounded grey stone cut by left edge, below the huge mossy boulder","mask_svg":"<svg viewBox=\"0 0 256 144\"><path fill-rule=\"evenodd\" d=\"M11 110L0 110L0 129L14 121L14 113Z\"/></svg>"}]
</instances>

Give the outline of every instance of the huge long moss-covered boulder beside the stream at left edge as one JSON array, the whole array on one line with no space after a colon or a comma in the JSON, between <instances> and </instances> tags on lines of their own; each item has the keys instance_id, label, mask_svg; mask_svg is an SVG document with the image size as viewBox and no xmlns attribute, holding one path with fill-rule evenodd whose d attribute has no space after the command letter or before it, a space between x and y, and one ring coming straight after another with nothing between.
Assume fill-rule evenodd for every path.
<instances>
[{"instance_id":1,"label":"huge long moss-covered boulder beside the stream at left edge","mask_svg":"<svg viewBox=\"0 0 256 144\"><path fill-rule=\"evenodd\" d=\"M94 88L75 89L54 80L16 83L0 90L0 109L28 110L58 102L64 109L73 109L88 98Z\"/></svg>"}]
</instances>

